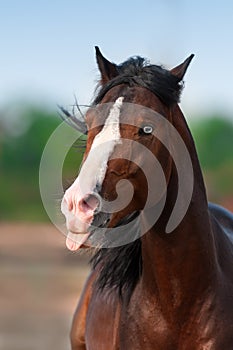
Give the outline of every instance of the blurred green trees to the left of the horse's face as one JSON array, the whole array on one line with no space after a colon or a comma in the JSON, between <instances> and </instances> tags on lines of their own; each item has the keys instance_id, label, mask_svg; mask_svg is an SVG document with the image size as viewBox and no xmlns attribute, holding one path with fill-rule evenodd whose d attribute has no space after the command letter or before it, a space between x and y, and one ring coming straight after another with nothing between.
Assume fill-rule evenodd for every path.
<instances>
[{"instance_id":1,"label":"blurred green trees to the left of the horse's face","mask_svg":"<svg viewBox=\"0 0 233 350\"><path fill-rule=\"evenodd\" d=\"M16 126L10 123L1 127L0 220L47 220L40 199L39 165L46 142L61 118L57 112L28 106L17 118ZM19 123L24 124L22 132L14 130ZM75 171L77 174L74 164L77 167L80 161L77 149L71 148L64 164L68 181Z\"/></svg>"}]
</instances>

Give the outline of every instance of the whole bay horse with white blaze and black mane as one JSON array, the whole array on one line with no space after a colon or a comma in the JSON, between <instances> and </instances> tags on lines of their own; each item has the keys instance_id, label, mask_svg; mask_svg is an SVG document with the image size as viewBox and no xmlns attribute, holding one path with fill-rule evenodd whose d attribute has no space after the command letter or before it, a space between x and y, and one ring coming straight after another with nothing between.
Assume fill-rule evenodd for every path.
<instances>
[{"instance_id":1,"label":"whole bay horse with white blaze and black mane","mask_svg":"<svg viewBox=\"0 0 233 350\"><path fill-rule=\"evenodd\" d=\"M178 105L193 55L171 70L141 57L117 65L98 47L96 58L99 90L84 120L76 120L77 127L87 131L84 160L61 204L69 231L67 247L84 249L95 238L92 271L73 319L72 349L232 350L233 215L208 204L194 141ZM180 184L171 155L172 149L177 151L176 144L173 139L168 140L170 149L164 144L163 128L158 127L157 136L153 134L157 115L180 135L190 156L193 180L184 166ZM147 221L143 208L149 185L142 168L152 172L152 164L140 148L134 152L122 140L148 149L166 182L166 196L162 194L149 208L151 217L163 201L159 218L145 226L144 234L140 230L143 220ZM159 187L160 175L152 172L150 176L154 188ZM120 193L118 183L125 180L133 186L130 203L104 212L102 202L111 209ZM185 215L168 233L177 198L186 201L189 185L192 191ZM124 186L122 191L124 197ZM116 231L118 238L131 238L108 246L102 244L104 233L99 234L98 228L106 228L109 237L122 228Z\"/></svg>"}]
</instances>

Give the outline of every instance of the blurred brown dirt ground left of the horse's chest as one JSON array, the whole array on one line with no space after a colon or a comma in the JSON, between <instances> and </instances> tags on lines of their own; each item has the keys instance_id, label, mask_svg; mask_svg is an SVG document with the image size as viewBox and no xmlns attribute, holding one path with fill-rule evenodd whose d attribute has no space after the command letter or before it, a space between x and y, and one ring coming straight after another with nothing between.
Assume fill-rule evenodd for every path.
<instances>
[{"instance_id":1,"label":"blurred brown dirt ground left of the horse's chest","mask_svg":"<svg viewBox=\"0 0 233 350\"><path fill-rule=\"evenodd\" d=\"M67 350L88 258L49 224L0 223L0 350Z\"/></svg>"}]
</instances>

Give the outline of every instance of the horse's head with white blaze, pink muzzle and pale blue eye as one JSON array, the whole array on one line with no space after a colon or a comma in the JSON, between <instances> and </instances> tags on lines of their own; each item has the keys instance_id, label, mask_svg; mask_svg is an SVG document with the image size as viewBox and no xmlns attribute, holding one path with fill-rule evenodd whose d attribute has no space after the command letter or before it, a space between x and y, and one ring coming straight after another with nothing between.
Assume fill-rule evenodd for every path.
<instances>
[{"instance_id":1,"label":"horse's head with white blaze, pink muzzle and pale blue eye","mask_svg":"<svg viewBox=\"0 0 233 350\"><path fill-rule=\"evenodd\" d=\"M99 48L96 58L101 79L85 115L86 150L80 173L61 204L71 250L103 246L103 237L111 237L114 230L118 239L128 231L134 231L130 240L138 238L140 230L132 223L145 206L163 202L173 161L163 140L171 138L167 123L172 124L193 55L172 70L141 57L116 65Z\"/></svg>"}]
</instances>

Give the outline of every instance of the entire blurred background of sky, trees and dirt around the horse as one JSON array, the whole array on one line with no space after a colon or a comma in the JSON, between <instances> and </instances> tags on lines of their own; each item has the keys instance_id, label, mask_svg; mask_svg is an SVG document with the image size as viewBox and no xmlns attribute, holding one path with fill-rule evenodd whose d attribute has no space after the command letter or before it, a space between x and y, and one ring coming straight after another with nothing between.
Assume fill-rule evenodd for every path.
<instances>
[{"instance_id":1,"label":"entire blurred background of sky, trees and dirt around the horse","mask_svg":"<svg viewBox=\"0 0 233 350\"><path fill-rule=\"evenodd\" d=\"M89 267L49 222L38 171L57 105L92 99L95 45L116 63L141 55L168 68L195 54L181 108L209 200L233 210L232 32L230 0L0 1L0 350L69 348ZM80 159L71 149L67 183Z\"/></svg>"}]
</instances>

